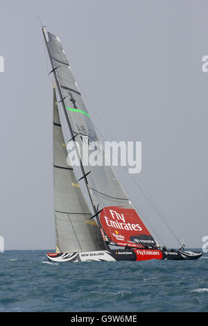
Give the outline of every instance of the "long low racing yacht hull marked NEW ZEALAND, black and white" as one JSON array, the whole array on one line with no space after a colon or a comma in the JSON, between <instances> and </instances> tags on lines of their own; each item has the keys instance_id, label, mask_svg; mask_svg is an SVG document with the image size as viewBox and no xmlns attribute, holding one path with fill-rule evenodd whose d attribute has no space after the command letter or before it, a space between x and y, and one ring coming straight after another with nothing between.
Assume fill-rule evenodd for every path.
<instances>
[{"instance_id":1,"label":"long low racing yacht hull marked NEW ZEALAND, black and white","mask_svg":"<svg viewBox=\"0 0 208 326\"><path fill-rule=\"evenodd\" d=\"M127 249L127 250L100 250L89 252L48 253L49 261L142 261L159 260L196 260L202 252L182 250L154 250L154 249Z\"/></svg>"}]
</instances>

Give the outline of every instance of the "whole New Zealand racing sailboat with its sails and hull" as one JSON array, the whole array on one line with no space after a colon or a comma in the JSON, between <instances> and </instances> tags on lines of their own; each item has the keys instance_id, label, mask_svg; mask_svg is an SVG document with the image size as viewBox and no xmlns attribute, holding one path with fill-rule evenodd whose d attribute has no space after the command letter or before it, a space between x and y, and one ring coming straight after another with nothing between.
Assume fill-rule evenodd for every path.
<instances>
[{"instance_id":1,"label":"whole New Zealand racing sailboat with its sails and hull","mask_svg":"<svg viewBox=\"0 0 208 326\"><path fill-rule=\"evenodd\" d=\"M83 164L79 146L92 147L98 135L85 107L60 39L42 27L53 87L53 175L55 252L50 261L141 261L198 259L202 252L160 247L137 214L110 164ZM87 139L87 141L86 141ZM76 148L77 171L67 160ZM105 155L104 155L105 159ZM83 190L84 189L84 190Z\"/></svg>"}]
</instances>

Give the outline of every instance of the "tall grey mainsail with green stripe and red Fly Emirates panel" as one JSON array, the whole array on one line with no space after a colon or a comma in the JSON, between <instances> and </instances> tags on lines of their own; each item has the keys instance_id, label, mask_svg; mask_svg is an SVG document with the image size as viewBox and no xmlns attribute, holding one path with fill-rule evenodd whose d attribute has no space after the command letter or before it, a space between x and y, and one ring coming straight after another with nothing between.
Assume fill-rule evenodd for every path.
<instances>
[{"instance_id":1,"label":"tall grey mainsail with green stripe and red Fly Emirates panel","mask_svg":"<svg viewBox=\"0 0 208 326\"><path fill-rule=\"evenodd\" d=\"M64 114L68 124L70 121L71 137L76 136L76 141L81 147L90 148L94 146L94 141L98 141L98 136L73 78L62 44L58 37L45 30L44 38ZM97 155L101 154L102 151L98 150ZM104 241L107 239L109 246L155 246L155 239L130 203L112 167L107 165L106 159L104 160L103 165L86 165L85 170L83 169L83 174L87 175L85 183L94 212L103 209L99 216L96 214L96 218Z\"/></svg>"}]
</instances>

